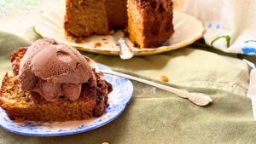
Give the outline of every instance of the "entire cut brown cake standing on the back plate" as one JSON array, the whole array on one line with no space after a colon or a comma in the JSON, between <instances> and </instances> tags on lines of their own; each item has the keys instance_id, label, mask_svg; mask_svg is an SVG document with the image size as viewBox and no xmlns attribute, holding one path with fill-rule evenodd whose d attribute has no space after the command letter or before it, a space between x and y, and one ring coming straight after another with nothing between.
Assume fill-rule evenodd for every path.
<instances>
[{"instance_id":1,"label":"entire cut brown cake standing on the back plate","mask_svg":"<svg viewBox=\"0 0 256 144\"><path fill-rule=\"evenodd\" d=\"M125 28L139 48L154 48L172 36L172 0L67 0L67 35L90 37ZM128 22L127 22L128 21Z\"/></svg>"}]
</instances>

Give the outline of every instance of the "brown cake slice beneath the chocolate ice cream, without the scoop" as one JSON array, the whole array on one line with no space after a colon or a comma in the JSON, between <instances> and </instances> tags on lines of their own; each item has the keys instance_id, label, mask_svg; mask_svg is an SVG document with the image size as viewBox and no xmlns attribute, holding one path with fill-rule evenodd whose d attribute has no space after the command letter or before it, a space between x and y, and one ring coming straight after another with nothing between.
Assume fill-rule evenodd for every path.
<instances>
[{"instance_id":1,"label":"brown cake slice beneath the chocolate ice cream, without the scoop","mask_svg":"<svg viewBox=\"0 0 256 144\"><path fill-rule=\"evenodd\" d=\"M58 47L63 46L61 43L57 43L55 42L55 40L49 38L38 40L38 42L56 43ZM34 43L34 46L35 45L37 44ZM29 50L31 49L32 47L20 48L12 55L11 61L13 63L14 76L9 76L9 74L6 74L3 78L3 83L0 90L0 106L8 114L9 118L21 118L32 121L50 122L81 120L102 116L102 114L108 107L108 94L112 91L112 86L111 84L108 84L106 80L104 80L102 72L96 72L96 69L94 67L89 67L92 77L81 83L79 93L73 93L72 86L67 88L60 86L61 91L64 89L68 89L69 92L73 94L78 94L79 96L75 96L76 99L67 96L70 93L62 93L63 95L59 95L60 93L55 93L56 95L54 97L56 98L54 99L54 101L53 99L47 99L47 96L45 97L45 95L47 95L48 93L45 93L44 96L42 96L42 91L38 92L38 90L35 90L40 89L38 88L38 82L40 81L40 78L42 78L41 76L40 78L36 76L36 85L32 86L32 84L27 84L26 86L30 85L31 88L22 88L20 84L20 75L22 74L20 74L20 71L24 71L22 70L22 63L24 65L24 60ZM33 48L33 50L35 50L35 48ZM34 60L34 58L32 60ZM89 63L85 58L84 62ZM38 69L36 70L37 72L40 72L38 71ZM64 71L64 69L62 69L62 71ZM49 73L50 72L45 74ZM70 73L72 72L69 72L69 74ZM75 74L75 72L73 72L73 74ZM54 79L56 80L55 82L51 82L51 80L46 80L44 84L49 83L54 84L55 86L61 84L67 86L67 84L71 84L63 82L63 79L61 80L62 82L57 82L58 78ZM55 88L56 87L49 89ZM56 89L55 91L57 92ZM43 92L45 92L44 89Z\"/></svg>"}]
</instances>

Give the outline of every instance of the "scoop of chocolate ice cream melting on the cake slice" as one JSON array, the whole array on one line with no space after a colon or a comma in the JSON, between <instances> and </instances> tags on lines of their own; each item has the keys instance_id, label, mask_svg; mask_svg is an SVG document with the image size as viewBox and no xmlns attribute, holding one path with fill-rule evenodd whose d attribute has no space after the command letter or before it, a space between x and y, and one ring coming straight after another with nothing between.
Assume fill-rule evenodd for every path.
<instances>
[{"instance_id":1,"label":"scoop of chocolate ice cream melting on the cake slice","mask_svg":"<svg viewBox=\"0 0 256 144\"><path fill-rule=\"evenodd\" d=\"M43 38L28 47L20 62L20 90L34 90L46 101L65 95L71 101L79 98L81 84L94 78L94 73L79 51Z\"/></svg>"}]
</instances>

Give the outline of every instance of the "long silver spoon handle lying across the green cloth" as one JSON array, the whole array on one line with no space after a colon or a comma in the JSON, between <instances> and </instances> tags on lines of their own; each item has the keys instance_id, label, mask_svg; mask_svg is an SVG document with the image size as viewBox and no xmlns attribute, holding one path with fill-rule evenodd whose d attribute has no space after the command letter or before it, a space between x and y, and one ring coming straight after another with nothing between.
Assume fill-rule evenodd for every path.
<instances>
[{"instance_id":1,"label":"long silver spoon handle lying across the green cloth","mask_svg":"<svg viewBox=\"0 0 256 144\"><path fill-rule=\"evenodd\" d=\"M119 77L129 78L129 79L136 80L136 81L144 83L144 84L152 85L152 86L154 86L156 88L159 88L159 89L164 89L164 90L172 92L173 94L176 94L176 95L178 95L182 98L186 98L186 99L188 99L189 101L192 101L193 103L195 103L195 105L198 105L198 106L207 106L209 103L212 102L212 99L210 98L210 96L202 94L202 93L195 93L195 92L189 92L185 89L172 88L172 87L164 85L164 84L155 83L155 82L143 79L143 78L133 77L133 76L127 75L125 73L113 72L111 70L102 70L102 72L112 74L112 75L116 75L116 76L119 76Z\"/></svg>"}]
</instances>

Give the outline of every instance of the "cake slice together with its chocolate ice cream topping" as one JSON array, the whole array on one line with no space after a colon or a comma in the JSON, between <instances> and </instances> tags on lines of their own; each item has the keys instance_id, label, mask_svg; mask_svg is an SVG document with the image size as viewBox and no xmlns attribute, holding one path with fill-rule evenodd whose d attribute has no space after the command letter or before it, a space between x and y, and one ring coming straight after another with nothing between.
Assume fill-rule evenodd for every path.
<instances>
[{"instance_id":1,"label":"cake slice together with its chocolate ice cream topping","mask_svg":"<svg viewBox=\"0 0 256 144\"><path fill-rule=\"evenodd\" d=\"M9 118L80 120L102 116L108 107L111 84L66 44L40 39L16 51L11 62L14 76L6 74L0 90Z\"/></svg>"}]
</instances>

